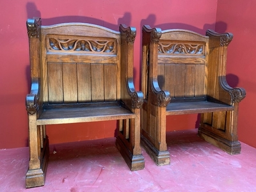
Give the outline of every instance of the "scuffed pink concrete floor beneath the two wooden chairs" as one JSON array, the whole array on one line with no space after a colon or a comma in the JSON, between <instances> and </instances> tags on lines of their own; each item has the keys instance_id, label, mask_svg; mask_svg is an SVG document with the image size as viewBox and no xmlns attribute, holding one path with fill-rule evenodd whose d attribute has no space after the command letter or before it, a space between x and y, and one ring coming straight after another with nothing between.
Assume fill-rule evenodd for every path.
<instances>
[{"instance_id":1,"label":"scuffed pink concrete floor beneath the two wooden chairs","mask_svg":"<svg viewBox=\"0 0 256 192\"><path fill-rule=\"evenodd\" d=\"M156 166L142 148L145 169L137 172L115 138L51 145L45 186L31 189L25 188L28 147L0 150L0 191L256 191L256 148L241 143L241 154L230 156L196 131L167 132L167 166Z\"/></svg>"}]
</instances>

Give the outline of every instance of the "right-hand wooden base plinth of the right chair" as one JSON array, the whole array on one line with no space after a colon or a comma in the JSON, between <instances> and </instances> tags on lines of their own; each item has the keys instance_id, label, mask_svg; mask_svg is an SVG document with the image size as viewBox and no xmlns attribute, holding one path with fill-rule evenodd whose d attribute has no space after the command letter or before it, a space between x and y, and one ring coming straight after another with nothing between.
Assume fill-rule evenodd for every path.
<instances>
[{"instance_id":1,"label":"right-hand wooden base plinth of the right chair","mask_svg":"<svg viewBox=\"0 0 256 192\"><path fill-rule=\"evenodd\" d=\"M241 152L241 143L239 141L229 141L204 128L198 129L198 136L212 145L221 148L230 155L240 154Z\"/></svg>"}]
</instances>

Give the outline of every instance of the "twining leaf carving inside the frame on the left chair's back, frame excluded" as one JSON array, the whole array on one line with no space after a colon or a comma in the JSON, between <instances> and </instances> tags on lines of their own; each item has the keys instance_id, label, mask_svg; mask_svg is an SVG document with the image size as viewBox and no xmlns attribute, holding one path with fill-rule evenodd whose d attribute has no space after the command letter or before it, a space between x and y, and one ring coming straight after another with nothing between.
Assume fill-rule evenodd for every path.
<instances>
[{"instance_id":1,"label":"twining leaf carving inside the frame on the left chair's back, frame excluded","mask_svg":"<svg viewBox=\"0 0 256 192\"><path fill-rule=\"evenodd\" d=\"M113 41L49 38L49 50L114 52Z\"/></svg>"}]
</instances>

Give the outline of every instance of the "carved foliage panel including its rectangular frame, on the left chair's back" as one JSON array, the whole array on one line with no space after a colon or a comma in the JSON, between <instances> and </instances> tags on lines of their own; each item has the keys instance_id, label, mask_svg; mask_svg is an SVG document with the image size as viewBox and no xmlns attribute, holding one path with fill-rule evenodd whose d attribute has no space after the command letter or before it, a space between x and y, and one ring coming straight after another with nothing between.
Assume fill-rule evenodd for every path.
<instances>
[{"instance_id":1,"label":"carved foliage panel including its rectangular frame, on the left chair's back","mask_svg":"<svg viewBox=\"0 0 256 192\"><path fill-rule=\"evenodd\" d=\"M113 38L47 35L46 42L48 52L116 54L116 40Z\"/></svg>"}]
</instances>

